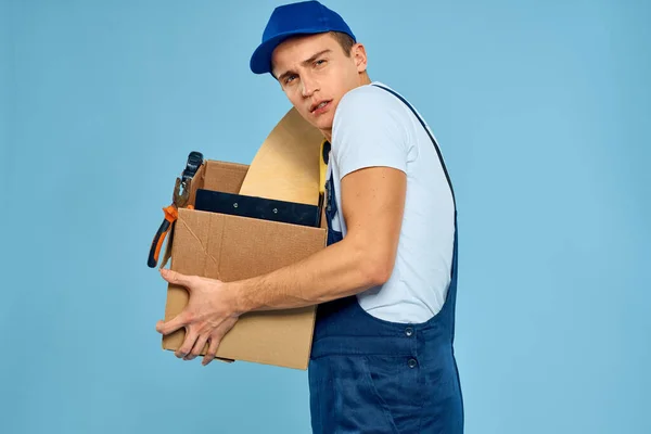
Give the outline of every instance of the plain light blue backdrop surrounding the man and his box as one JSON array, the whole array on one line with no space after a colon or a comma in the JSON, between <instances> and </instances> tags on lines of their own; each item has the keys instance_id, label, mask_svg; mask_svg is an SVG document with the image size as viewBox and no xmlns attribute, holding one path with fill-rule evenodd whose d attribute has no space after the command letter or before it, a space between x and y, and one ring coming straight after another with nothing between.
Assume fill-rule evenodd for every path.
<instances>
[{"instance_id":1,"label":"plain light blue backdrop surrounding the man and his box","mask_svg":"<svg viewBox=\"0 0 651 434\"><path fill-rule=\"evenodd\" d=\"M145 257L187 155L289 108L278 1L0 2L4 433L307 433L306 373L161 349ZM460 225L467 432L651 432L651 8L326 1L435 131Z\"/></svg>"}]
</instances>

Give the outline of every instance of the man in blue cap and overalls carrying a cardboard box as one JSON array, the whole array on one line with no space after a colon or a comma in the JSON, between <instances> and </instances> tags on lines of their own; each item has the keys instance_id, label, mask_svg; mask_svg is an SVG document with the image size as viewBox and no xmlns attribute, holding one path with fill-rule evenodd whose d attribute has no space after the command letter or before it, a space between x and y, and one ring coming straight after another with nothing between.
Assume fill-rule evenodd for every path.
<instances>
[{"instance_id":1,"label":"man in blue cap and overalls carrying a cardboard box","mask_svg":"<svg viewBox=\"0 0 651 434\"><path fill-rule=\"evenodd\" d=\"M238 318L319 304L309 363L316 433L461 433L452 342L457 288L455 197L425 123L372 82L365 47L317 1L277 8L251 59L331 143L328 246L239 282L182 276L186 327L177 357L208 343L209 362Z\"/></svg>"}]
</instances>

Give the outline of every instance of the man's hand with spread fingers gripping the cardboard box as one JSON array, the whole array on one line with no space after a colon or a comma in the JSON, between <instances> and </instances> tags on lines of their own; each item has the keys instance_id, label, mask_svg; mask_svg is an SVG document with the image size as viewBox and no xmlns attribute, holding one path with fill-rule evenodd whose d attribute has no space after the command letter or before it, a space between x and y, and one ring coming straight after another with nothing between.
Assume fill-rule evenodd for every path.
<instances>
[{"instance_id":1,"label":"man's hand with spread fingers gripping the cardboard box","mask_svg":"<svg viewBox=\"0 0 651 434\"><path fill-rule=\"evenodd\" d=\"M215 358L219 343L239 319L232 292L226 290L226 283L216 279L184 276L167 269L162 269L161 276L169 283L184 286L190 301L175 318L167 322L158 321L156 331L166 335L186 328L186 340L175 355L192 360L208 343L202 361L202 365L208 365Z\"/></svg>"}]
</instances>

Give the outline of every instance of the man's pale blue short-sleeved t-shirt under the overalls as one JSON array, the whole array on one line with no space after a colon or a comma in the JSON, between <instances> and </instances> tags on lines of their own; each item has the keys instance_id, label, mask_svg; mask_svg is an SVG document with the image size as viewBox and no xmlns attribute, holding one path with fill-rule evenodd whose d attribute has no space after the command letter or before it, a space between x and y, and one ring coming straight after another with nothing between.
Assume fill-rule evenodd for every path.
<instances>
[{"instance_id":1,"label":"man's pale blue short-sleeved t-shirt under the overalls","mask_svg":"<svg viewBox=\"0 0 651 434\"><path fill-rule=\"evenodd\" d=\"M411 110L366 85L346 93L334 115L328 176L333 175L340 210L341 179L370 166L407 174L407 197L393 273L383 285L358 294L359 304L383 320L424 322L441 310L450 283L452 195L434 144ZM333 226L346 235L341 212Z\"/></svg>"}]
</instances>

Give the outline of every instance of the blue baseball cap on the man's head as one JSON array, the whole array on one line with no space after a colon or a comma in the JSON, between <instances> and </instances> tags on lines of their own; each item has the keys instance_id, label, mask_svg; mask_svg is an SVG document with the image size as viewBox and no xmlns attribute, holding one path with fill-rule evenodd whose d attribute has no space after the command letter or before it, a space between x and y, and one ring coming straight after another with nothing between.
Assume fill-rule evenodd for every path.
<instances>
[{"instance_id":1,"label":"blue baseball cap on the man's head","mask_svg":"<svg viewBox=\"0 0 651 434\"><path fill-rule=\"evenodd\" d=\"M251 71L255 74L270 73L271 53L285 39L295 35L324 31L342 31L357 41L344 20L318 1L302 1L276 8L263 33L263 42L251 56Z\"/></svg>"}]
</instances>

